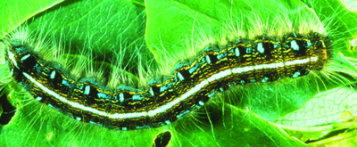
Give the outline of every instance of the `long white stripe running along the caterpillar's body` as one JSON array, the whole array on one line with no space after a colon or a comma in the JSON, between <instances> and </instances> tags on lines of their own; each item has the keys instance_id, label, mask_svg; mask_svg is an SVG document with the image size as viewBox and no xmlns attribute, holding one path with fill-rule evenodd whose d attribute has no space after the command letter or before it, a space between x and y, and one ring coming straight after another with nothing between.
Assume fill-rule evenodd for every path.
<instances>
[{"instance_id":1,"label":"long white stripe running along the caterpillar's body","mask_svg":"<svg viewBox=\"0 0 357 147\"><path fill-rule=\"evenodd\" d=\"M33 82L36 86L41 88L44 92L47 94L50 94L54 96L54 98L58 99L61 102L67 103L71 105L73 108L79 109L79 110L85 110L92 112L96 115L100 115L103 117L107 118L113 118L113 119L122 119L122 118L140 118L140 117L154 117L166 110L169 110L172 108L174 105L178 104L179 102L182 102L183 100L187 99L191 95L195 94L199 90L201 90L204 86L208 85L210 82L217 80L219 78L225 78L231 74L237 74L237 73L244 73L247 71L251 71L253 69L275 69L275 68L282 68L285 66L290 66L290 65L295 65L295 64L304 64L309 61L318 61L318 57L311 57L307 59L300 59L300 60L295 60L295 61L286 61L286 62L278 62L278 63L268 63L268 64L261 64L261 65L255 65L255 66L247 66L247 67L239 67L239 68L233 68L233 69L225 69L222 70L216 74L213 74L210 78L207 78L203 80L201 83L193 86L190 90L188 90L185 94L182 94L180 97L174 99L171 102L167 102L164 105L157 107L154 110L148 110L148 111L141 111L141 112L130 112L130 113L107 113L105 111L101 110L96 110L95 108L87 107L85 105L82 105L78 102L71 102L68 101L66 98L62 97L60 94L55 93L54 91L51 91L48 89L46 86L43 86L41 83L38 83L36 79L32 78L29 76L29 74L22 72L23 75L28 78L31 82Z\"/></svg>"}]
</instances>

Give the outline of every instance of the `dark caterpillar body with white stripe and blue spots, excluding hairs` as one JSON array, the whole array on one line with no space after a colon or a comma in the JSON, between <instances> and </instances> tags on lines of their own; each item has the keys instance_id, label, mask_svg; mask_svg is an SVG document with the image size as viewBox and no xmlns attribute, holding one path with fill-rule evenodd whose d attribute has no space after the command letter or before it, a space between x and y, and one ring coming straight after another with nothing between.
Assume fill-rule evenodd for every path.
<instances>
[{"instance_id":1,"label":"dark caterpillar body with white stripe and blue spots, excluding hairs","mask_svg":"<svg viewBox=\"0 0 357 147\"><path fill-rule=\"evenodd\" d=\"M12 77L37 101L77 120L128 130L170 124L232 86L321 70L329 45L328 38L313 32L238 38L228 45L207 46L194 59L179 62L171 75L152 79L145 89L110 89L97 79L72 78L59 63L45 63L21 40L7 45L5 57Z\"/></svg>"}]
</instances>

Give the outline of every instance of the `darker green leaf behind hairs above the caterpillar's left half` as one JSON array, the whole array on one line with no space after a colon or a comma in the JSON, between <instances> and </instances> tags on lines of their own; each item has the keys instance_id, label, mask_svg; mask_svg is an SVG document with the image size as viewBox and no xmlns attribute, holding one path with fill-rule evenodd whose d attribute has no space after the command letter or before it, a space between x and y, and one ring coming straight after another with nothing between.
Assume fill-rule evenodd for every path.
<instances>
[{"instance_id":1,"label":"darker green leaf behind hairs above the caterpillar's left half","mask_svg":"<svg viewBox=\"0 0 357 147\"><path fill-rule=\"evenodd\" d=\"M90 51L133 73L138 54L146 62L152 58L145 45L145 8L127 1L66 1L29 20L29 29L38 26L64 38L71 53Z\"/></svg>"}]
</instances>

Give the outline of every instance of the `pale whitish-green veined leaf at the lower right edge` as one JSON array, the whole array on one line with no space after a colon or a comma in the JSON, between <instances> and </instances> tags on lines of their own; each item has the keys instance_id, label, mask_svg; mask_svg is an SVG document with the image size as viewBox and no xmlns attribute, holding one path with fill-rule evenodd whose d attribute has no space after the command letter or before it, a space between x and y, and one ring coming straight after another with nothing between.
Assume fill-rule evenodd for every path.
<instances>
[{"instance_id":1,"label":"pale whitish-green veined leaf at the lower right edge","mask_svg":"<svg viewBox=\"0 0 357 147\"><path fill-rule=\"evenodd\" d=\"M351 87L341 87L315 95L299 110L279 118L277 122L294 127L311 127L342 123L342 114L357 114L357 94Z\"/></svg>"}]
</instances>

